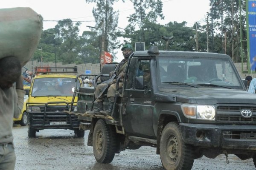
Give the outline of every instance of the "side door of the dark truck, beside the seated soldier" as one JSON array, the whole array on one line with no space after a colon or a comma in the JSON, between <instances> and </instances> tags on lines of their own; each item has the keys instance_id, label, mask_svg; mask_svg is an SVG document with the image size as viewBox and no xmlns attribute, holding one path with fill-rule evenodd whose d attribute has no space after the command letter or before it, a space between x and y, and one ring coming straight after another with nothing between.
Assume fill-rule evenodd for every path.
<instances>
[{"instance_id":1,"label":"side door of the dark truck, beside the seated soldier","mask_svg":"<svg viewBox=\"0 0 256 170\"><path fill-rule=\"evenodd\" d=\"M134 71L128 73L128 79L132 83L128 83L124 90L124 97L127 101L123 112L125 131L136 136L153 138L155 136L152 127L154 103L151 99L150 60L137 60ZM138 79L143 80L140 87L136 82Z\"/></svg>"}]
</instances>

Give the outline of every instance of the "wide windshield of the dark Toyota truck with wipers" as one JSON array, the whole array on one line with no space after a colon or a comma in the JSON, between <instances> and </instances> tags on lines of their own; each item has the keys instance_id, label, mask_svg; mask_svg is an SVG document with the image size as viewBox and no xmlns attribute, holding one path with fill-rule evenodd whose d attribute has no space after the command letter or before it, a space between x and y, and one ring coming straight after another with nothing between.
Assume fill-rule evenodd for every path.
<instances>
[{"instance_id":1,"label":"wide windshield of the dark Toyota truck with wipers","mask_svg":"<svg viewBox=\"0 0 256 170\"><path fill-rule=\"evenodd\" d=\"M227 59L159 57L158 63L162 87L174 84L187 87L186 83L198 88L242 88L240 78Z\"/></svg>"}]
</instances>

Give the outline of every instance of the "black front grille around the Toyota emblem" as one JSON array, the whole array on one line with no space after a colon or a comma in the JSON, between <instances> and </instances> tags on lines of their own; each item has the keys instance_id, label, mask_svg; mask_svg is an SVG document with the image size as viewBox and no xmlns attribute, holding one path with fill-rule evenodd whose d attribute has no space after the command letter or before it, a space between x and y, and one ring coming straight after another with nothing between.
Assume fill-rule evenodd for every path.
<instances>
[{"instance_id":1,"label":"black front grille around the Toyota emblem","mask_svg":"<svg viewBox=\"0 0 256 170\"><path fill-rule=\"evenodd\" d=\"M253 116L250 118L245 118L241 116L241 111L243 109L249 109L253 111ZM217 122L232 122L232 123L252 123L256 124L256 106L217 106L217 115L216 115Z\"/></svg>"}]
</instances>

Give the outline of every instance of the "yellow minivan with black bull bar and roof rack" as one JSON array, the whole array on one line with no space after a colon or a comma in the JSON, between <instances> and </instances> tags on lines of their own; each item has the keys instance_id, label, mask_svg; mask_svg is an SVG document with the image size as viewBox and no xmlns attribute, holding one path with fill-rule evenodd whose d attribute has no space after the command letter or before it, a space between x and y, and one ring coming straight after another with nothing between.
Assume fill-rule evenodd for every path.
<instances>
[{"instance_id":1,"label":"yellow minivan with black bull bar and roof rack","mask_svg":"<svg viewBox=\"0 0 256 170\"><path fill-rule=\"evenodd\" d=\"M75 67L76 68L76 67ZM74 130L75 136L84 137L84 130L79 130L77 116L65 113L69 110L74 95L75 87L82 85L82 80L77 81L77 73L68 71L67 68L47 68L36 72L32 79L29 91L29 99L26 103L29 115L28 136L35 137L36 132L43 129L70 129ZM75 97L76 103L77 97ZM73 105L72 110L76 107Z\"/></svg>"}]
</instances>

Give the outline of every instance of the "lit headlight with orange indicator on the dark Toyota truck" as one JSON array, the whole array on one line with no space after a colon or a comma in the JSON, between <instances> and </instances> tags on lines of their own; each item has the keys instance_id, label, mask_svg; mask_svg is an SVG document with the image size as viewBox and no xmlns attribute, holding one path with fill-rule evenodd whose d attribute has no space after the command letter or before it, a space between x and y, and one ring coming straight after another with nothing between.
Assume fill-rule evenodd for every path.
<instances>
[{"instance_id":1,"label":"lit headlight with orange indicator on the dark Toyota truck","mask_svg":"<svg viewBox=\"0 0 256 170\"><path fill-rule=\"evenodd\" d=\"M187 118L215 120L215 108L211 105L181 105L181 109Z\"/></svg>"}]
</instances>

